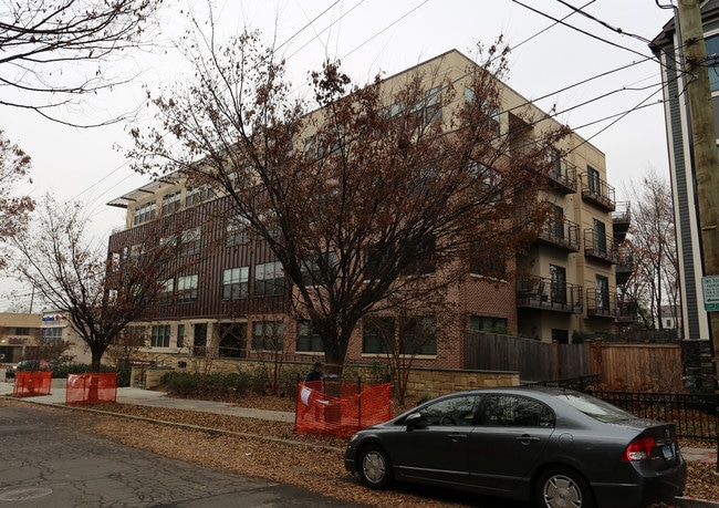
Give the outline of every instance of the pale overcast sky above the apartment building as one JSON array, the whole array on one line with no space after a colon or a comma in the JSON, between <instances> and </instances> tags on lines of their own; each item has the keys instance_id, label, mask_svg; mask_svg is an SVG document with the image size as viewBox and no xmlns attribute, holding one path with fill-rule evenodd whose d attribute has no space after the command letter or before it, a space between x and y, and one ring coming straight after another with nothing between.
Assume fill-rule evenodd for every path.
<instances>
[{"instance_id":1,"label":"pale overcast sky above the apartment building","mask_svg":"<svg viewBox=\"0 0 719 508\"><path fill-rule=\"evenodd\" d=\"M564 3L595 19L572 13ZM157 46L169 48L181 33L180 8L189 7L201 17L205 6L204 0L178 0L174 11L164 13ZM284 43L282 51L298 89L326 56L338 58L356 83L365 83L378 73L392 75L451 49L471 55L478 42L491 44L503 34L512 48L508 84L527 99L546 97L538 101L540 107L556 106L560 122L604 152L607 179L619 201L625 199L624 188L649 168L668 179L659 64L650 59L646 40L654 39L673 15L655 0L215 1L220 37L247 25L261 30L268 41ZM551 18L564 19L573 28ZM159 90L189 74L171 49L135 54L129 62L117 72L137 66L143 71L139 79L88 99L82 120L134 111L143 102L143 85ZM602 74L606 75L572 86ZM138 122L153 118L140 113ZM147 182L133 174L117 148L132 144L127 127L72 128L30 112L0 108L0 128L33 159L33 185L21 190L38 199L51 190L59 199L86 203L95 241L103 245L114 228L124 226L125 216L106 203ZM0 283L1 311L13 301L8 291L19 288Z\"/></svg>"}]
</instances>

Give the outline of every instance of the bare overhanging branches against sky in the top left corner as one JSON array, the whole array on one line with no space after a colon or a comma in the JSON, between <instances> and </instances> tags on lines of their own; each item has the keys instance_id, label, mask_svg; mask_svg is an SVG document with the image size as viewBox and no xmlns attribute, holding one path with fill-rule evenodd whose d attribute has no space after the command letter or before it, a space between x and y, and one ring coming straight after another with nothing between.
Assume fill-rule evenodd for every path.
<instances>
[{"instance_id":1,"label":"bare overhanging branches against sky in the top left corner","mask_svg":"<svg viewBox=\"0 0 719 508\"><path fill-rule=\"evenodd\" d=\"M52 111L128 81L114 58L150 39L160 0L6 0L0 7L0 105ZM62 122L65 123L65 122Z\"/></svg>"}]
</instances>

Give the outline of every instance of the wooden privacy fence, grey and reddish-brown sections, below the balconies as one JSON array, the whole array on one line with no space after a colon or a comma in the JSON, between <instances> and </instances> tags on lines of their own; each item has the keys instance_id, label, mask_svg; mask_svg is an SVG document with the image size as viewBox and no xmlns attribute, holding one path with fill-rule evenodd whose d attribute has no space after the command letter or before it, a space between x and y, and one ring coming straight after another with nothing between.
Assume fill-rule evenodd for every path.
<instances>
[{"instance_id":1,"label":"wooden privacy fence, grey and reddish-brown sections, below the balconies","mask_svg":"<svg viewBox=\"0 0 719 508\"><path fill-rule=\"evenodd\" d=\"M678 343L560 344L483 332L469 333L465 343L465 369L515 371L524 383L598 375L619 390L684 390Z\"/></svg>"}]
</instances>

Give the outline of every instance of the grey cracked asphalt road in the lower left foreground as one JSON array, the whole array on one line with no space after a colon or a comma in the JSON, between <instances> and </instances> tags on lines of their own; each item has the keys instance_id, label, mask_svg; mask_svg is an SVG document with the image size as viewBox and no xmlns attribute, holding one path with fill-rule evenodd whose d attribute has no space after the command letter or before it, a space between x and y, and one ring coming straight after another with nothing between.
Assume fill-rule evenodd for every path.
<instances>
[{"instance_id":1,"label":"grey cracked asphalt road in the lower left foreground","mask_svg":"<svg viewBox=\"0 0 719 508\"><path fill-rule=\"evenodd\" d=\"M0 506L357 506L123 446L73 427L72 416L34 404L0 408Z\"/></svg>"}]
</instances>

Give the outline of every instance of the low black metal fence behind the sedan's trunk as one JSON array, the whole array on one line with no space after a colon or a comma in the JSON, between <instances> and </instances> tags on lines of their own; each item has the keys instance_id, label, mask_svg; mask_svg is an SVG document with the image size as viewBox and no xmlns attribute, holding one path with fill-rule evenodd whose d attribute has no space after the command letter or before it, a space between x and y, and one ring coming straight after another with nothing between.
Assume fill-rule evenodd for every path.
<instances>
[{"instance_id":1,"label":"low black metal fence behind the sedan's trunk","mask_svg":"<svg viewBox=\"0 0 719 508\"><path fill-rule=\"evenodd\" d=\"M719 425L716 394L604 392L587 390L615 406L644 418L671 422L677 437L717 440Z\"/></svg>"}]
</instances>

